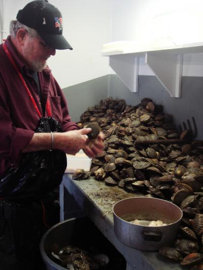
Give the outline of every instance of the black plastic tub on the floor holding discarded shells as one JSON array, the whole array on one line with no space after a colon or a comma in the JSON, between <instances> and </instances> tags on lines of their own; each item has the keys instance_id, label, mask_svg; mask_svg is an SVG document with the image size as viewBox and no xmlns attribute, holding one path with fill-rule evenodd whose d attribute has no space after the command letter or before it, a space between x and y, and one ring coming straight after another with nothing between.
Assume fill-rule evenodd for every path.
<instances>
[{"instance_id":1,"label":"black plastic tub on the floor holding discarded shells","mask_svg":"<svg viewBox=\"0 0 203 270\"><path fill-rule=\"evenodd\" d=\"M51 227L41 239L40 252L47 270L66 269L52 259L50 254L54 246L59 249L74 245L86 251L95 250L109 257L108 270L125 270L126 261L117 249L104 237L89 218L72 218Z\"/></svg>"}]
</instances>

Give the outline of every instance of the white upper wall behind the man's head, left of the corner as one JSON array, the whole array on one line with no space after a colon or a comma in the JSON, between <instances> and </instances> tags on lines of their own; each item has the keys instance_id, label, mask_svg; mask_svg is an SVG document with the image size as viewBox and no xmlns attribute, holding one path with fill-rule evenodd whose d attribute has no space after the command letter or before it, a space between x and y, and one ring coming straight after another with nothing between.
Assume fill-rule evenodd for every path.
<instances>
[{"instance_id":1,"label":"white upper wall behind the man's head, left of the corner","mask_svg":"<svg viewBox=\"0 0 203 270\"><path fill-rule=\"evenodd\" d=\"M4 3L5 29L16 18L27 0L0 0ZM63 16L63 35L73 51L56 51L48 61L61 88L69 87L111 73L101 46L111 39L111 0L50 0ZM1 16L1 15L0 15Z\"/></svg>"}]
</instances>

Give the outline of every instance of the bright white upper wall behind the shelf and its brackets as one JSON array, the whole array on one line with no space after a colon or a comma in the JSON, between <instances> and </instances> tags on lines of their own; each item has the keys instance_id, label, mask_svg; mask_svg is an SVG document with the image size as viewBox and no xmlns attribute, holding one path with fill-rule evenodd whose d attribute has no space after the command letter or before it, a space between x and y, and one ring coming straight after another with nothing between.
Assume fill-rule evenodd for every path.
<instances>
[{"instance_id":1,"label":"bright white upper wall behind the shelf and its brackets","mask_svg":"<svg viewBox=\"0 0 203 270\"><path fill-rule=\"evenodd\" d=\"M202 0L112 0L112 42L154 47L203 42ZM203 54L184 55L183 75L203 76ZM140 59L140 75L154 73Z\"/></svg>"}]
</instances>

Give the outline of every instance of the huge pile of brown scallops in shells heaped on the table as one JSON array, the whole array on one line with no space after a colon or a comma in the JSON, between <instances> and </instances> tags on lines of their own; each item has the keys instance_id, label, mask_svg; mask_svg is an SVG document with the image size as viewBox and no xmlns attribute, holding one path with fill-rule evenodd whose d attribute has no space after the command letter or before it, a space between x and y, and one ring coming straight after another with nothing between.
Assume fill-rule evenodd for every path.
<instances>
[{"instance_id":1,"label":"huge pile of brown scallops in shells heaped on the table","mask_svg":"<svg viewBox=\"0 0 203 270\"><path fill-rule=\"evenodd\" d=\"M107 98L81 115L80 127L96 125L105 133L104 154L92 159L90 172L77 170L74 179L90 175L128 192L172 201L183 211L174 247L160 254L181 265L203 269L203 142L191 129L179 132L163 106L144 98L136 106Z\"/></svg>"}]
</instances>

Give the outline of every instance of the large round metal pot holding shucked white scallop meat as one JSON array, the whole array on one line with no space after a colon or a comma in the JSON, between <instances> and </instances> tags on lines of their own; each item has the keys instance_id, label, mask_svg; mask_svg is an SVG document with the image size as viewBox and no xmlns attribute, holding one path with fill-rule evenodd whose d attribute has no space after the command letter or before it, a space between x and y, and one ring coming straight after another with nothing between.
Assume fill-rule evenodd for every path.
<instances>
[{"instance_id":1,"label":"large round metal pot holding shucked white scallop meat","mask_svg":"<svg viewBox=\"0 0 203 270\"><path fill-rule=\"evenodd\" d=\"M123 244L146 251L157 251L160 247L173 245L182 210L173 203L147 197L128 198L113 207L114 231ZM161 220L165 226L143 226L129 221Z\"/></svg>"}]
</instances>

